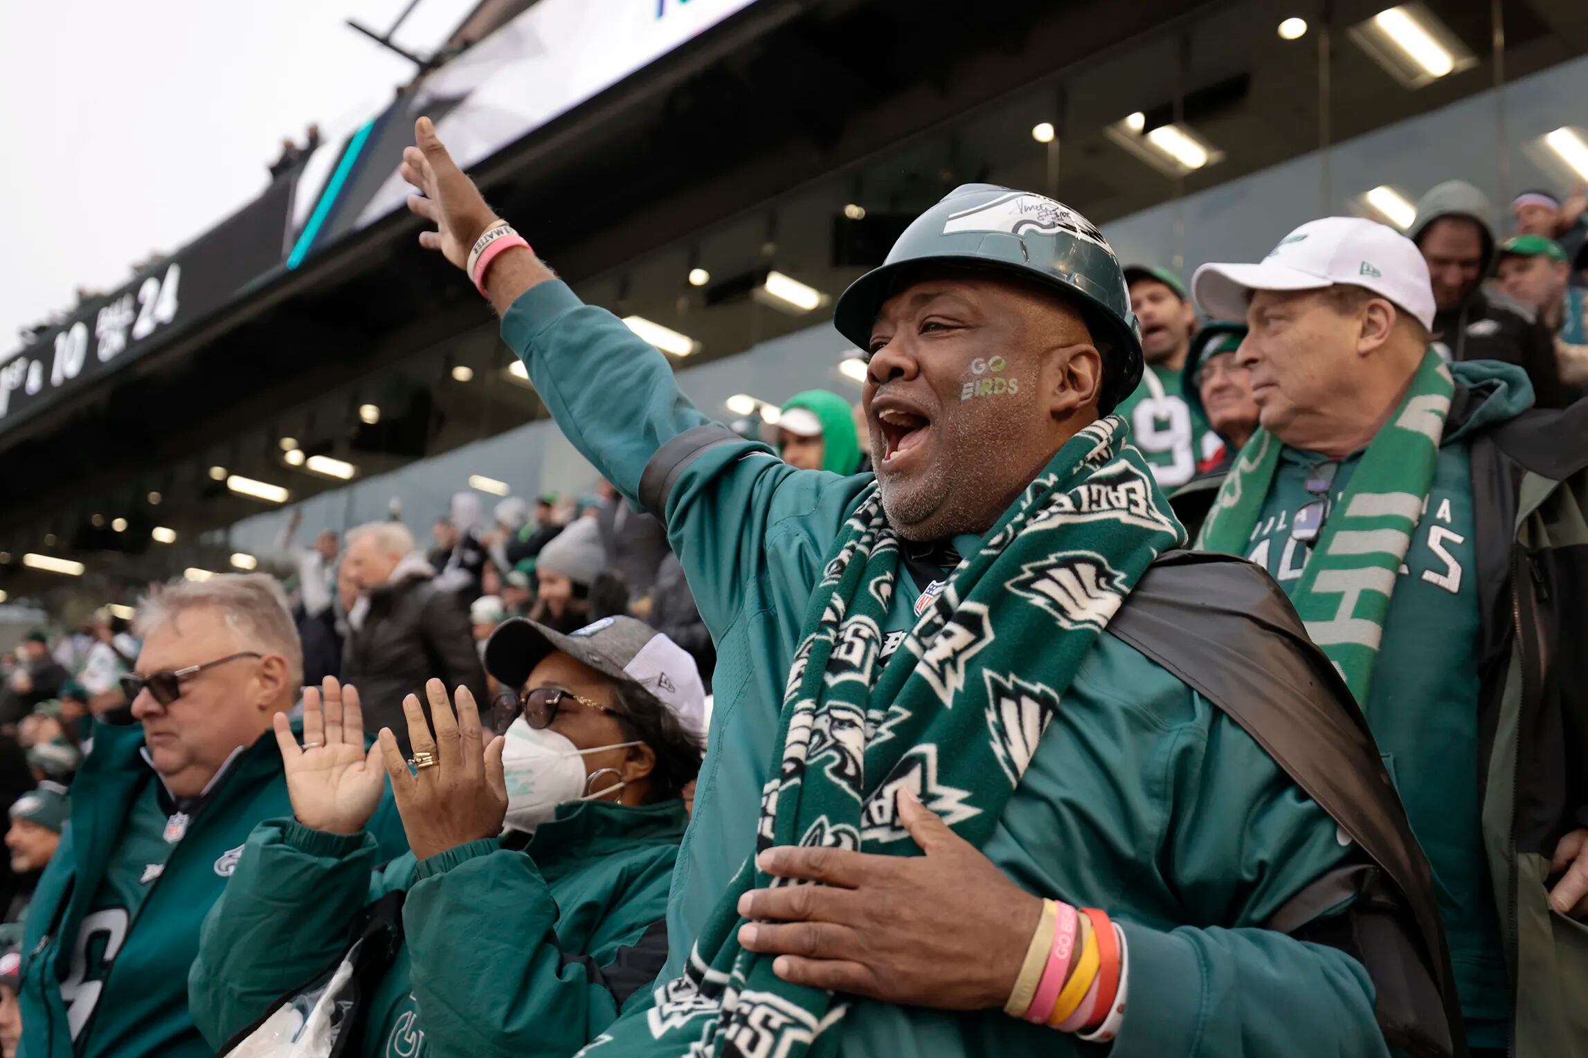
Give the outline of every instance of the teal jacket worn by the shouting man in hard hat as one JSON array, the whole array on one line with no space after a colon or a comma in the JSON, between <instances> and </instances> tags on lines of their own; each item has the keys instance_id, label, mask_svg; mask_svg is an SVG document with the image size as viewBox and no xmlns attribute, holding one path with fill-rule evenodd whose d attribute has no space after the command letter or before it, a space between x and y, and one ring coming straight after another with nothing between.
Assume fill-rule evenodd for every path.
<instances>
[{"instance_id":1,"label":"teal jacket worn by the shouting man in hard hat","mask_svg":"<svg viewBox=\"0 0 1588 1058\"><path fill-rule=\"evenodd\" d=\"M502 333L575 447L664 519L718 644L696 825L669 904L664 976L675 976L754 847L805 603L870 479L796 471L710 425L659 352L561 282L526 292ZM1245 731L1120 639L1102 636L1083 661L983 852L1027 890L1123 923L1132 999L1116 1058L1169 1044L1180 1055L1385 1053L1359 963L1255 928L1340 861L1332 820ZM1000 1010L877 1002L856 1004L840 1036L845 1055L1083 1050Z\"/></svg>"}]
</instances>

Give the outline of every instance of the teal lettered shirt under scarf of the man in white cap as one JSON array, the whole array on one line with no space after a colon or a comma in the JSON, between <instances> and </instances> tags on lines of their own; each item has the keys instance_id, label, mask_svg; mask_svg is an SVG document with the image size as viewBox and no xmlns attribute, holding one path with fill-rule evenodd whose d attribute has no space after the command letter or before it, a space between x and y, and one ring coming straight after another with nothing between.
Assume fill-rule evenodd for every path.
<instances>
[{"instance_id":1,"label":"teal lettered shirt under scarf of the man in white cap","mask_svg":"<svg viewBox=\"0 0 1588 1058\"><path fill-rule=\"evenodd\" d=\"M1309 471L1323 457L1283 449L1245 557L1286 592L1301 582L1310 547L1291 535L1313 495ZM1332 503L1361 452L1332 482ZM1467 447L1447 443L1390 596L1383 642L1364 715L1401 793L1412 831L1434 868L1439 910L1461 1012L1474 1047L1504 1047L1510 1015L1499 920L1478 830L1478 598Z\"/></svg>"}]
</instances>

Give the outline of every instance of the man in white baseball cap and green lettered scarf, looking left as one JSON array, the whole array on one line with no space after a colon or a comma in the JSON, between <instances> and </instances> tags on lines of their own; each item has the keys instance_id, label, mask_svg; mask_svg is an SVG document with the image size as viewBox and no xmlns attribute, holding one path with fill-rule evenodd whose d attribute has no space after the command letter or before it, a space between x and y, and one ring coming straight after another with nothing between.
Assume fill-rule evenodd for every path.
<instances>
[{"instance_id":1,"label":"man in white baseball cap and green lettered scarf, looking left","mask_svg":"<svg viewBox=\"0 0 1588 1058\"><path fill-rule=\"evenodd\" d=\"M1540 606L1588 573L1559 547L1583 517L1588 401L1529 409L1521 368L1447 365L1423 254L1370 220L1312 220L1191 289L1247 320L1259 409L1197 546L1267 568L1363 707L1443 896L1474 1053L1572 1053L1559 996L1588 988L1588 953L1521 923L1545 893L1588 910L1588 782L1571 739L1513 739L1588 722L1556 690L1588 680L1575 619Z\"/></svg>"}]
</instances>

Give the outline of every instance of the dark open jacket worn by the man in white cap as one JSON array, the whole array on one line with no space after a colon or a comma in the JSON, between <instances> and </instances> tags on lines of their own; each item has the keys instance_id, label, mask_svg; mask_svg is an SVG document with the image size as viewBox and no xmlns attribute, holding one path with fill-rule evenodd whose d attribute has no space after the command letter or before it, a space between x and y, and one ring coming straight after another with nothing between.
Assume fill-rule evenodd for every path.
<instances>
[{"instance_id":1,"label":"dark open jacket worn by the man in white cap","mask_svg":"<svg viewBox=\"0 0 1588 1058\"><path fill-rule=\"evenodd\" d=\"M1478 595L1480 825L1513 1002L1517 1058L1588 1058L1588 923L1555 912L1550 860L1588 826L1588 400L1493 414L1510 365L1451 365ZM1512 397L1515 398L1515 397ZM1526 406L1521 400L1520 406ZM1194 536L1220 479L1175 493Z\"/></svg>"}]
</instances>

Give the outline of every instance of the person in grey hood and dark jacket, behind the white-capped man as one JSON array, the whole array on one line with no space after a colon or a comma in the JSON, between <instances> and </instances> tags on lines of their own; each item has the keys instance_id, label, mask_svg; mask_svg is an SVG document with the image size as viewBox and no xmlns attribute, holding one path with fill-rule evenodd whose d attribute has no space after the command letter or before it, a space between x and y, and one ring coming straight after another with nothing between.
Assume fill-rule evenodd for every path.
<instances>
[{"instance_id":1,"label":"person in grey hood and dark jacket, behind the white-capped man","mask_svg":"<svg viewBox=\"0 0 1588 1058\"><path fill-rule=\"evenodd\" d=\"M1483 282L1496 252L1490 217L1483 192L1458 179L1437 184L1416 203L1407 236L1428 262L1434 347L1451 363L1513 363L1528 373L1536 406L1566 408L1583 390L1561 381L1550 328L1532 306Z\"/></svg>"}]
</instances>

